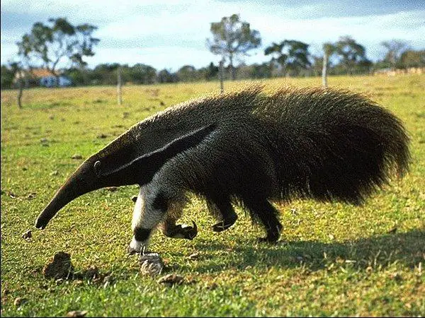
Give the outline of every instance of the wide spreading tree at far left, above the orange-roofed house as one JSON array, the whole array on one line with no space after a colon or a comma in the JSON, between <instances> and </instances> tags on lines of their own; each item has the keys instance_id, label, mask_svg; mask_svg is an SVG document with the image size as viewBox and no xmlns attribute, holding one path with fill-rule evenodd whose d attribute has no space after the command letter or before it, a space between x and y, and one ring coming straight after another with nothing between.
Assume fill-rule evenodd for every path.
<instances>
[{"instance_id":1,"label":"wide spreading tree at far left, above the orange-roofed house","mask_svg":"<svg viewBox=\"0 0 425 318\"><path fill-rule=\"evenodd\" d=\"M92 37L97 29L87 23L74 26L66 18L50 18L50 25L34 23L30 33L18 42L18 56L29 61L31 66L42 65L57 78L57 66L70 62L85 66L84 57L94 55L94 45L99 39Z\"/></svg>"}]
</instances>

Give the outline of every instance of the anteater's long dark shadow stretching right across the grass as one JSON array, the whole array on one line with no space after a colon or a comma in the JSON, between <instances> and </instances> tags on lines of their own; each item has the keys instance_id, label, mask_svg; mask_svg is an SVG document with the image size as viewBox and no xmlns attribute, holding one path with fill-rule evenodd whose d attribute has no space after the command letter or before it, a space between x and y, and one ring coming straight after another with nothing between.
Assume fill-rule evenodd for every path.
<instances>
[{"instance_id":1,"label":"anteater's long dark shadow stretching right across the grass","mask_svg":"<svg viewBox=\"0 0 425 318\"><path fill-rule=\"evenodd\" d=\"M200 261L195 268L200 273L245 269L246 266L305 266L317 271L329 268L332 263L375 269L397 262L413 268L424 261L425 231L411 230L346 242L295 241L278 242L277 245L246 242L241 237L232 249L225 244L206 241L198 242L198 249L205 256L205 261Z\"/></svg>"}]
</instances>

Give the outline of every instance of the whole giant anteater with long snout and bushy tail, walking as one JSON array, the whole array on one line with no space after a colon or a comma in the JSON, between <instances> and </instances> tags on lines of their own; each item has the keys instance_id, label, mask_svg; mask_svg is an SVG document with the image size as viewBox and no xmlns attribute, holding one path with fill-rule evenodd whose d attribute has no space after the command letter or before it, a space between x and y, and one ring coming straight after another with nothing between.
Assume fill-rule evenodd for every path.
<instances>
[{"instance_id":1,"label":"whole giant anteater with long snout and bushy tail, walking","mask_svg":"<svg viewBox=\"0 0 425 318\"><path fill-rule=\"evenodd\" d=\"M154 114L84 161L40 213L45 228L69 201L96 189L139 184L130 252L140 252L159 225L176 225L186 194L203 196L217 219L237 220L241 204L278 240L282 225L271 201L312 198L361 204L409 165L409 138L397 117L358 93L330 88L263 86L183 102Z\"/></svg>"}]
</instances>

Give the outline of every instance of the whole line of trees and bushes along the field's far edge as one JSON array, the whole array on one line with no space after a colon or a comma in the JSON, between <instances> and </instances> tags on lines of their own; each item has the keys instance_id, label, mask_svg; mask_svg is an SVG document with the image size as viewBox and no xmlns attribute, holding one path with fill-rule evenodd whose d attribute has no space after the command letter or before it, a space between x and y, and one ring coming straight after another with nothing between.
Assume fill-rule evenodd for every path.
<instances>
[{"instance_id":1,"label":"whole line of trees and bushes along the field's far edge","mask_svg":"<svg viewBox=\"0 0 425 318\"><path fill-rule=\"evenodd\" d=\"M366 57L366 49L353 37L343 36L336 42L324 43L322 54L310 53L310 45L294 39L273 42L264 49L269 58L261 64L244 64L248 52L261 47L261 34L251 29L239 15L223 17L210 24L212 37L205 45L212 54L221 57L220 64L212 62L196 69L184 65L177 71L157 70L146 64L99 64L89 69L85 57L95 54L100 41L93 37L96 26L74 26L66 18L50 19L50 24L35 23L30 33L23 35L18 45L15 61L1 66L1 88L16 86L16 72L42 67L59 74L57 66L67 62L61 73L68 76L76 86L115 85L118 71L123 83L153 84L190 81L215 81L222 79L258 79L278 76L321 76L362 74L378 69L403 69L425 66L425 50L409 48L406 42L391 40L382 42L385 57L373 62ZM234 65L234 60L240 61ZM222 71L220 72L220 66ZM15 78L15 80L14 80Z\"/></svg>"}]
</instances>

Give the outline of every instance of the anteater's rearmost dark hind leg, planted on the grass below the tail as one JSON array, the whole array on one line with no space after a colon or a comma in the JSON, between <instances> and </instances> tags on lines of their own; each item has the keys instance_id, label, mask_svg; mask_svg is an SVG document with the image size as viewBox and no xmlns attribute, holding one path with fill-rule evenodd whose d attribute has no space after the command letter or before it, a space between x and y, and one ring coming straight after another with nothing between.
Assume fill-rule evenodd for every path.
<instances>
[{"instance_id":1,"label":"anteater's rearmost dark hind leg, planted on the grass below the tail","mask_svg":"<svg viewBox=\"0 0 425 318\"><path fill-rule=\"evenodd\" d=\"M256 199L244 201L245 207L249 209L251 215L259 218L266 228L266 237L261 237L260 242L277 242L280 237L282 225L280 224L277 214L278 211L274 208L267 199Z\"/></svg>"}]
</instances>

